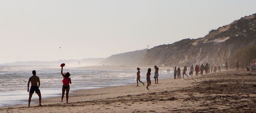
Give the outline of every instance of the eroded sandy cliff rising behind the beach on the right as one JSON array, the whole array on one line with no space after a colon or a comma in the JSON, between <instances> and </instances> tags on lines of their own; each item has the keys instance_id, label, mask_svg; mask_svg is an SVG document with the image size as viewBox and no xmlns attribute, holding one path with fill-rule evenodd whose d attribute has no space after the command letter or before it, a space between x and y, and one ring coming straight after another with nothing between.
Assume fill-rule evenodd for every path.
<instances>
[{"instance_id":1,"label":"eroded sandy cliff rising behind the beach on the right","mask_svg":"<svg viewBox=\"0 0 256 113\"><path fill-rule=\"evenodd\" d=\"M184 39L148 49L140 65L184 66L230 62L234 52L256 44L256 14L212 30L204 38Z\"/></svg>"}]
</instances>

